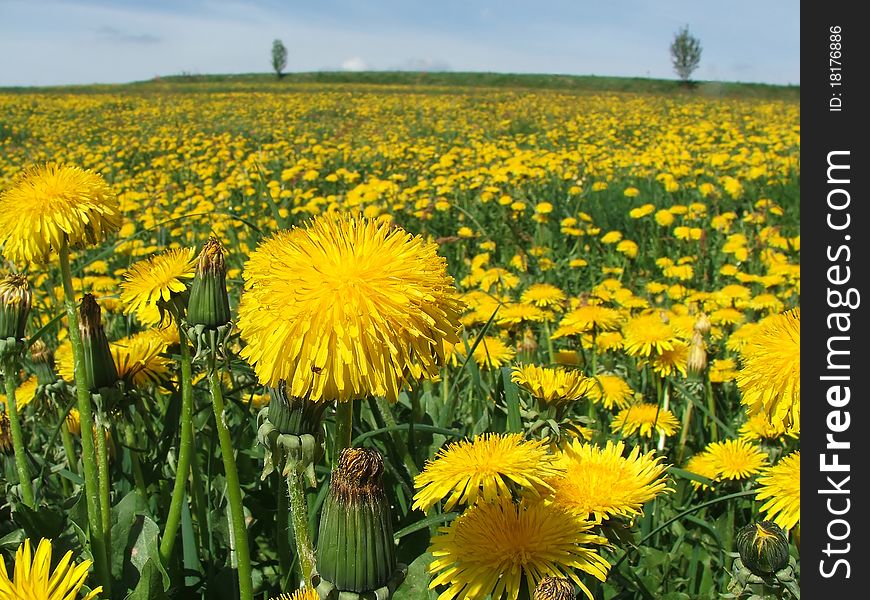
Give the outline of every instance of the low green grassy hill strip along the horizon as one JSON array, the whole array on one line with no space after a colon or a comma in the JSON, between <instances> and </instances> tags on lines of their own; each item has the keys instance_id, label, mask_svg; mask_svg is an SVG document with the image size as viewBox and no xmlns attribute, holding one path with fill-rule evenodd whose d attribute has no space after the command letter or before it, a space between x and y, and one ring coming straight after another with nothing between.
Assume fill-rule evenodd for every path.
<instances>
[{"instance_id":1,"label":"low green grassy hill strip along the horizon","mask_svg":"<svg viewBox=\"0 0 870 600\"><path fill-rule=\"evenodd\" d=\"M457 88L515 88L562 92L634 92L654 94L694 94L799 100L800 86L767 85L722 81L699 81L691 87L671 79L642 77L600 77L595 75L546 75L512 73L363 71L288 73L278 79L274 74L171 75L125 84L92 84L55 87L10 87L0 92L46 93L190 93L220 91L293 92L312 87L407 87L408 91L450 91Z\"/></svg>"}]
</instances>

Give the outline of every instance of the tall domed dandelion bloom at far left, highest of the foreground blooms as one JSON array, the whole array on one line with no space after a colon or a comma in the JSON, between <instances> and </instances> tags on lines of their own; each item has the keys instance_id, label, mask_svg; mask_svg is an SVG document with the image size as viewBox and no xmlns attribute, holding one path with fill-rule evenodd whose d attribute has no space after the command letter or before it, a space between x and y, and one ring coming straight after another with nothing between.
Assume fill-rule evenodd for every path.
<instances>
[{"instance_id":1,"label":"tall domed dandelion bloom at far left, highest of the foreground blooms","mask_svg":"<svg viewBox=\"0 0 870 600\"><path fill-rule=\"evenodd\" d=\"M79 167L30 167L0 195L0 246L17 263L45 262L64 243L97 244L120 227L121 210L109 185Z\"/></svg>"}]
</instances>

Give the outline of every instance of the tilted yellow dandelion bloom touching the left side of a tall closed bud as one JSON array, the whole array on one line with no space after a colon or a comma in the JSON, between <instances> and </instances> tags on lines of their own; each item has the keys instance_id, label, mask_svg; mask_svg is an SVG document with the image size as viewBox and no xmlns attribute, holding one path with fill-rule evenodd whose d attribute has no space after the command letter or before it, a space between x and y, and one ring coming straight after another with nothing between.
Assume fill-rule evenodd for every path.
<instances>
[{"instance_id":1,"label":"tilted yellow dandelion bloom touching the left side of a tall closed bud","mask_svg":"<svg viewBox=\"0 0 870 600\"><path fill-rule=\"evenodd\" d=\"M166 303L187 291L196 260L195 249L178 248L134 263L121 283L125 312L135 313L143 325L162 322Z\"/></svg>"}]
</instances>

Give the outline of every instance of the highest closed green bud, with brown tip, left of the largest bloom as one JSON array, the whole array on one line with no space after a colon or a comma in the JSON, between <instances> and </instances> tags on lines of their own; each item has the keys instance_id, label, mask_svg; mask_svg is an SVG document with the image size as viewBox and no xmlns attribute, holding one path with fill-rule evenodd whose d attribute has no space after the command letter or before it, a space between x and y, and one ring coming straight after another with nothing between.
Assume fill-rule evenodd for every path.
<instances>
[{"instance_id":1,"label":"highest closed green bud, with brown tip, left of the largest bloom","mask_svg":"<svg viewBox=\"0 0 870 600\"><path fill-rule=\"evenodd\" d=\"M231 319L224 248L212 236L199 253L187 305L187 336L196 344L197 356L219 349L225 352Z\"/></svg>"}]
</instances>

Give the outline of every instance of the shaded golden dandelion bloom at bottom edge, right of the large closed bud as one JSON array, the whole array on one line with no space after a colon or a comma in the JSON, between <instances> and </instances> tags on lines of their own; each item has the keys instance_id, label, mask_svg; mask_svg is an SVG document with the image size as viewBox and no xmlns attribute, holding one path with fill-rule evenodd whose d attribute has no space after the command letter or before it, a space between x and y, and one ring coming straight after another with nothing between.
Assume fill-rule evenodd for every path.
<instances>
[{"instance_id":1,"label":"shaded golden dandelion bloom at bottom edge, right of the large closed bud","mask_svg":"<svg viewBox=\"0 0 870 600\"><path fill-rule=\"evenodd\" d=\"M432 538L429 589L446 586L438 600L517 600L523 580L531 593L550 576L571 579L591 599L577 571L604 581L610 569L594 549L607 540L592 526L543 502L478 504Z\"/></svg>"}]
</instances>

